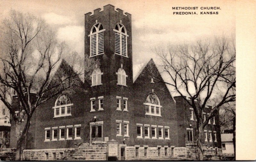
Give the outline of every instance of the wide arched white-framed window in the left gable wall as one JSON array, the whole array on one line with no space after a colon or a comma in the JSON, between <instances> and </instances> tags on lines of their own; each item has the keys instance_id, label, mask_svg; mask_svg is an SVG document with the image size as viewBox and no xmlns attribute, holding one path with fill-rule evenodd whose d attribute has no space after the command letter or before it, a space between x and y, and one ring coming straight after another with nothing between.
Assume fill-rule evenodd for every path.
<instances>
[{"instance_id":1,"label":"wide arched white-framed window in the left gable wall","mask_svg":"<svg viewBox=\"0 0 256 162\"><path fill-rule=\"evenodd\" d=\"M54 118L71 116L71 101L66 94L60 95L56 102L55 106L52 107L54 109Z\"/></svg>"}]
</instances>

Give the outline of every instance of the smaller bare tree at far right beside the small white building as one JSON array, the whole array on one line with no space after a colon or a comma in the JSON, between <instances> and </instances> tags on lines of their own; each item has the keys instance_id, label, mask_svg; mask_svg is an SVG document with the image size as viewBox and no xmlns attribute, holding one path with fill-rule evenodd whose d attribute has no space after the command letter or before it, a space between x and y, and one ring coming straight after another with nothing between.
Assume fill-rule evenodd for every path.
<instances>
[{"instance_id":1,"label":"smaller bare tree at far right beside the small white building","mask_svg":"<svg viewBox=\"0 0 256 162\"><path fill-rule=\"evenodd\" d=\"M220 108L220 125L221 129L232 129L234 153L236 158L236 103L231 102Z\"/></svg>"}]
</instances>

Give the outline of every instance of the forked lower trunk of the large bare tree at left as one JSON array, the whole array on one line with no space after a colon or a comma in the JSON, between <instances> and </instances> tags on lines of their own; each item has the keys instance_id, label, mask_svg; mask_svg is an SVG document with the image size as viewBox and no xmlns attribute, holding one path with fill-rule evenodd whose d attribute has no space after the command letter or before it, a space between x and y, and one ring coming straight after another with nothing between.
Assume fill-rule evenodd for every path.
<instances>
[{"instance_id":1,"label":"forked lower trunk of the large bare tree at left","mask_svg":"<svg viewBox=\"0 0 256 162\"><path fill-rule=\"evenodd\" d=\"M30 127L30 120L31 117L27 118L27 122L26 125L24 126L24 129L21 133L21 122L17 122L17 124L15 123L16 126L16 138L18 139L17 141L17 145L16 145L16 156L15 156L15 160L23 160L23 150L26 147L26 137L28 134L28 128ZM18 132L19 131L19 132Z\"/></svg>"}]
</instances>

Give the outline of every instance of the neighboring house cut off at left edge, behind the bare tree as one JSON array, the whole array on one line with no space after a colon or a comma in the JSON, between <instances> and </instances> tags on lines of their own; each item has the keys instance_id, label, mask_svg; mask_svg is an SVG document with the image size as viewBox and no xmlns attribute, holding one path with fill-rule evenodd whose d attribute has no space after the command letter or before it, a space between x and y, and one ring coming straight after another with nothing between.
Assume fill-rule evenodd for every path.
<instances>
[{"instance_id":1,"label":"neighboring house cut off at left edge, behind the bare tree","mask_svg":"<svg viewBox=\"0 0 256 162\"><path fill-rule=\"evenodd\" d=\"M0 151L10 146L10 112L0 101Z\"/></svg>"}]
</instances>

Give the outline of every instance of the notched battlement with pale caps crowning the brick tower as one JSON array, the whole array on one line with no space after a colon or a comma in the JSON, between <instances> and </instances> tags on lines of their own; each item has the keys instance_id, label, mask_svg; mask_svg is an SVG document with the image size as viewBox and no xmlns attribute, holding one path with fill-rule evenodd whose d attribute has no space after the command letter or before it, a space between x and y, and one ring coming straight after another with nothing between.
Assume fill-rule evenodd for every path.
<instances>
[{"instance_id":1,"label":"notched battlement with pale caps crowning the brick tower","mask_svg":"<svg viewBox=\"0 0 256 162\"><path fill-rule=\"evenodd\" d=\"M124 15L124 16L127 16L129 18L131 18L131 16L132 16L128 12L124 13L124 11L119 9L119 8L115 9L115 6L113 6L112 4L108 4L108 5L103 6L103 9L97 8L97 9L93 10L93 13L92 12L88 12L88 13L85 13L84 15L85 16L95 16L95 15L100 14L101 12L104 12L104 11L107 11L107 12L109 12L109 11L118 12L120 15Z\"/></svg>"}]
</instances>

